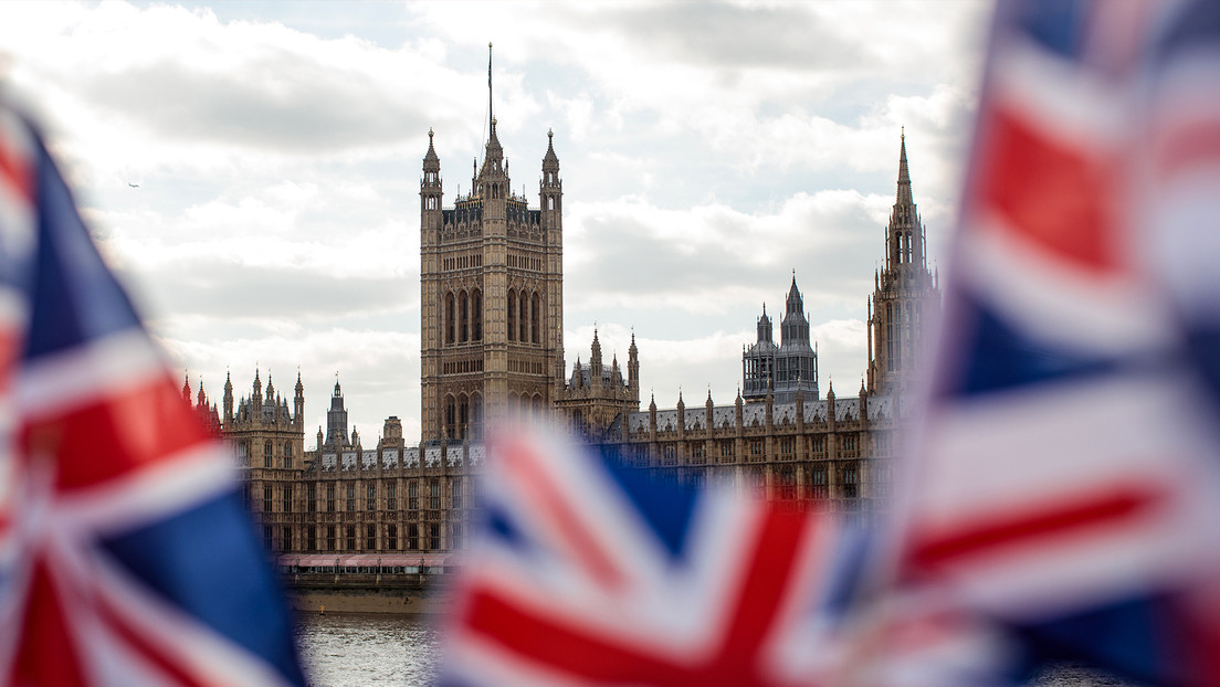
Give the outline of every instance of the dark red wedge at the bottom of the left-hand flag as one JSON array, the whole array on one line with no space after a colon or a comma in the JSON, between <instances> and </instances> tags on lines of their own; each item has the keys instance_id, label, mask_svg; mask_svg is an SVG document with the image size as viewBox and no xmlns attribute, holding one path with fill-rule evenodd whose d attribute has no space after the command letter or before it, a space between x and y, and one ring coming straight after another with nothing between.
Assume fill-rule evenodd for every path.
<instances>
[{"instance_id":1,"label":"dark red wedge at the bottom of the left-hand flag","mask_svg":"<svg viewBox=\"0 0 1220 687\"><path fill-rule=\"evenodd\" d=\"M40 558L30 571L26 617L18 633L17 661L9 685L85 685L77 641L68 627L67 606ZM5 630L6 632L10 628Z\"/></svg>"}]
</instances>

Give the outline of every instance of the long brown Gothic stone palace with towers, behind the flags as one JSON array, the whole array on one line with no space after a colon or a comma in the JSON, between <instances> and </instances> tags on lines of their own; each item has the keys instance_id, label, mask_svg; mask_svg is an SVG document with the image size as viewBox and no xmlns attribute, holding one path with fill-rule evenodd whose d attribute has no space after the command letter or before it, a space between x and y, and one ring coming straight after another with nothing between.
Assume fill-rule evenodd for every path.
<instances>
[{"instance_id":1,"label":"long brown Gothic stone palace with towers, behind the flags","mask_svg":"<svg viewBox=\"0 0 1220 687\"><path fill-rule=\"evenodd\" d=\"M490 118L490 117L489 117ZM548 132L548 138L551 133ZM410 444L398 417L365 447L334 384L327 426L305 450L305 392L292 408L259 372L248 397L224 382L222 408L200 386L183 395L235 450L243 488L268 547L310 565L351 554L378 565L443 565L462 547L484 459L483 427L550 415L573 436L659 480L728 482L802 508L866 519L884 509L903 399L920 378L914 354L941 308L925 228L911 196L903 139L884 267L869 298L867 370L855 395L817 388L795 278L780 340L764 308L742 356L731 404L640 410L634 336L626 370L605 364L597 333L588 364L564 364L564 193L548 140L538 207L514 194L495 120L467 195L443 204L440 159L428 132L420 183L423 436ZM813 504L813 505L809 505ZM367 556L360 556L367 558ZM427 561L425 561L427 559ZM400 563L390 563L399 560Z\"/></svg>"}]
</instances>

